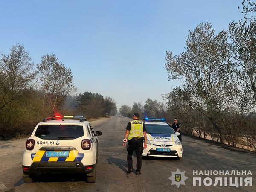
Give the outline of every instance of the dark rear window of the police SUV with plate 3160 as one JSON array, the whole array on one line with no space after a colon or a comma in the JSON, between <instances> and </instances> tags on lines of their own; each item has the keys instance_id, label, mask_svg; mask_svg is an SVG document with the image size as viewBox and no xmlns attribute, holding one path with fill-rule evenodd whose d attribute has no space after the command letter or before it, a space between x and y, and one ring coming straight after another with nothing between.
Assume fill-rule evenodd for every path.
<instances>
[{"instance_id":1,"label":"dark rear window of the police SUV with plate 3160","mask_svg":"<svg viewBox=\"0 0 256 192\"><path fill-rule=\"evenodd\" d=\"M84 135L79 125L40 125L35 136L43 140L72 140Z\"/></svg>"}]
</instances>

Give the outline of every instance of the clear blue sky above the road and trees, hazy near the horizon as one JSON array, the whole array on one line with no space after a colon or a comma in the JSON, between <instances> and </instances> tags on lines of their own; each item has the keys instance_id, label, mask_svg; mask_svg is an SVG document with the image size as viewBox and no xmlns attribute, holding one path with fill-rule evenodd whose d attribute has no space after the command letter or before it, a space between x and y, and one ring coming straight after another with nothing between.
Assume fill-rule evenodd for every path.
<instances>
[{"instance_id":1,"label":"clear blue sky above the road and trees, hazy near the horizon","mask_svg":"<svg viewBox=\"0 0 256 192\"><path fill-rule=\"evenodd\" d=\"M54 53L70 67L77 93L113 97L118 108L180 85L168 81L165 52L183 51L200 22L216 32L243 18L242 0L1 0L0 52L23 44L35 63Z\"/></svg>"}]
</instances>

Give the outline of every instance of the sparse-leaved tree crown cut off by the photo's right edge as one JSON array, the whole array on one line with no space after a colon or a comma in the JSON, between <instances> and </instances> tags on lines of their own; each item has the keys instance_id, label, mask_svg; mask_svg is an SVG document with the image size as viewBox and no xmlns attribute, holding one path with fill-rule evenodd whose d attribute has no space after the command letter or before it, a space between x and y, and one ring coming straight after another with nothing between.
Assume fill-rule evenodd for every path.
<instances>
[{"instance_id":1,"label":"sparse-leaved tree crown cut off by the photo's right edge","mask_svg":"<svg viewBox=\"0 0 256 192\"><path fill-rule=\"evenodd\" d=\"M256 107L256 22L230 23L229 36L233 75L241 86L238 101L243 113Z\"/></svg>"}]
</instances>

